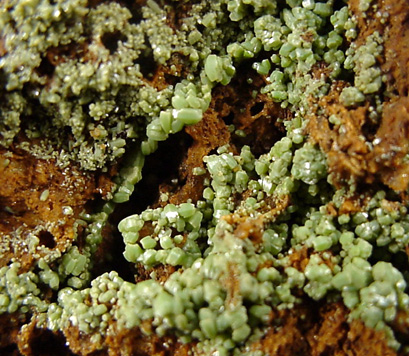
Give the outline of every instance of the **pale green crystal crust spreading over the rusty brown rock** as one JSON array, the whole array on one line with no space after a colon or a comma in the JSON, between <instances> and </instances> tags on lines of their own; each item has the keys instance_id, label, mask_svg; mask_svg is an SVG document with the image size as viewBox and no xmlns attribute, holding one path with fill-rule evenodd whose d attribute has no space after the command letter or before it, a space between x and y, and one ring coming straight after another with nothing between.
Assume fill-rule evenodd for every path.
<instances>
[{"instance_id":1,"label":"pale green crystal crust spreading over the rusty brown rock","mask_svg":"<svg viewBox=\"0 0 409 356\"><path fill-rule=\"evenodd\" d=\"M350 320L384 330L398 349L392 323L409 307L409 274L397 268L407 260L407 207L379 190L360 212L330 214L350 192L332 184L325 154L305 135L310 98L345 73L354 78L341 93L345 106L379 99L382 37L354 44L356 24L343 1L202 0L169 24L183 3L148 0L137 10L85 0L1 3L1 145L18 141L38 157L91 171L123 160L112 199L77 221L85 247L38 260L36 273L19 272L18 262L0 269L0 312L35 313L50 330L73 325L95 342L114 321L146 333L149 322L160 336L198 341L198 353L239 355L263 335L271 311L301 303L302 291L343 301ZM371 1L360 4L367 10ZM175 83L155 86L149 62L168 68ZM115 271L91 277L101 231L142 179L145 156L198 123L212 89L241 75L243 63L265 78L260 92L291 111L291 120L278 118L284 137L258 157L248 146L239 154L219 147L196 170L207 174L201 199L119 223L128 263L179 269L166 282L154 270L139 283ZM328 78L313 75L318 64ZM289 203L274 211L271 202L282 201ZM258 238L241 232L240 221ZM290 259L302 249L310 252L303 271ZM47 301L44 286L57 300Z\"/></svg>"}]
</instances>

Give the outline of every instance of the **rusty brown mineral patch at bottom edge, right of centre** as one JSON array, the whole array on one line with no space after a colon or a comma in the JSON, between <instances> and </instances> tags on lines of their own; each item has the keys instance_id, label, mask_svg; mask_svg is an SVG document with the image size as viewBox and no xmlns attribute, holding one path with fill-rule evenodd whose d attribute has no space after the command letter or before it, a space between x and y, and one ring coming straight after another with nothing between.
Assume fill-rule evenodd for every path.
<instances>
[{"instance_id":1,"label":"rusty brown mineral patch at bottom edge, right of centre","mask_svg":"<svg viewBox=\"0 0 409 356\"><path fill-rule=\"evenodd\" d=\"M376 355L393 356L382 333L365 328L362 322L346 320L347 310L340 303L296 307L292 311L278 311L273 319L280 319L279 328L271 328L258 342L255 350L267 355Z\"/></svg>"}]
</instances>

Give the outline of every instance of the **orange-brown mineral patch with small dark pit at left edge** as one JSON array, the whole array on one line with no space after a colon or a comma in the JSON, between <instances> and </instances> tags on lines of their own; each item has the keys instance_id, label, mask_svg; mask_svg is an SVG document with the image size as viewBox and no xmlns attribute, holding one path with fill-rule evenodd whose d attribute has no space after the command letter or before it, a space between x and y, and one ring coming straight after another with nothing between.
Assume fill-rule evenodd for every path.
<instances>
[{"instance_id":1,"label":"orange-brown mineral patch with small dark pit at left edge","mask_svg":"<svg viewBox=\"0 0 409 356\"><path fill-rule=\"evenodd\" d=\"M36 231L40 246L65 251L75 238L74 222L85 204L96 195L106 197L113 183L106 176L92 177L76 167L60 168L54 160L42 160L27 153L0 150L0 234L3 248L0 266L14 258L23 270L46 254L33 257L20 236ZM67 214L67 210L68 214ZM72 209L72 210L71 210ZM7 239L6 237L9 236Z\"/></svg>"}]
</instances>

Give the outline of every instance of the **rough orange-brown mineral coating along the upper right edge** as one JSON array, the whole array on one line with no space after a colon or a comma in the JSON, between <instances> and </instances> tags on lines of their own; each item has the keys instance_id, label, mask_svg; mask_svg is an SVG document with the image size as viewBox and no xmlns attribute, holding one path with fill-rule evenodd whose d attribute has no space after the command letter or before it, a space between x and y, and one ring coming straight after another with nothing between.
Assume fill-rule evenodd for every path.
<instances>
[{"instance_id":1,"label":"rough orange-brown mineral coating along the upper right edge","mask_svg":"<svg viewBox=\"0 0 409 356\"><path fill-rule=\"evenodd\" d=\"M359 1L351 1L350 8L358 19L357 45L375 31L385 39L384 58L378 59L386 78L381 120L376 125L370 122L369 103L354 108L343 106L339 95L346 83L336 82L319 101L323 112L312 116L309 133L326 152L336 186L383 183L404 192L409 183L409 8L404 0L379 2L377 11L389 14L386 21L373 11L364 16L358 10ZM341 124L331 125L331 115L336 115Z\"/></svg>"}]
</instances>

